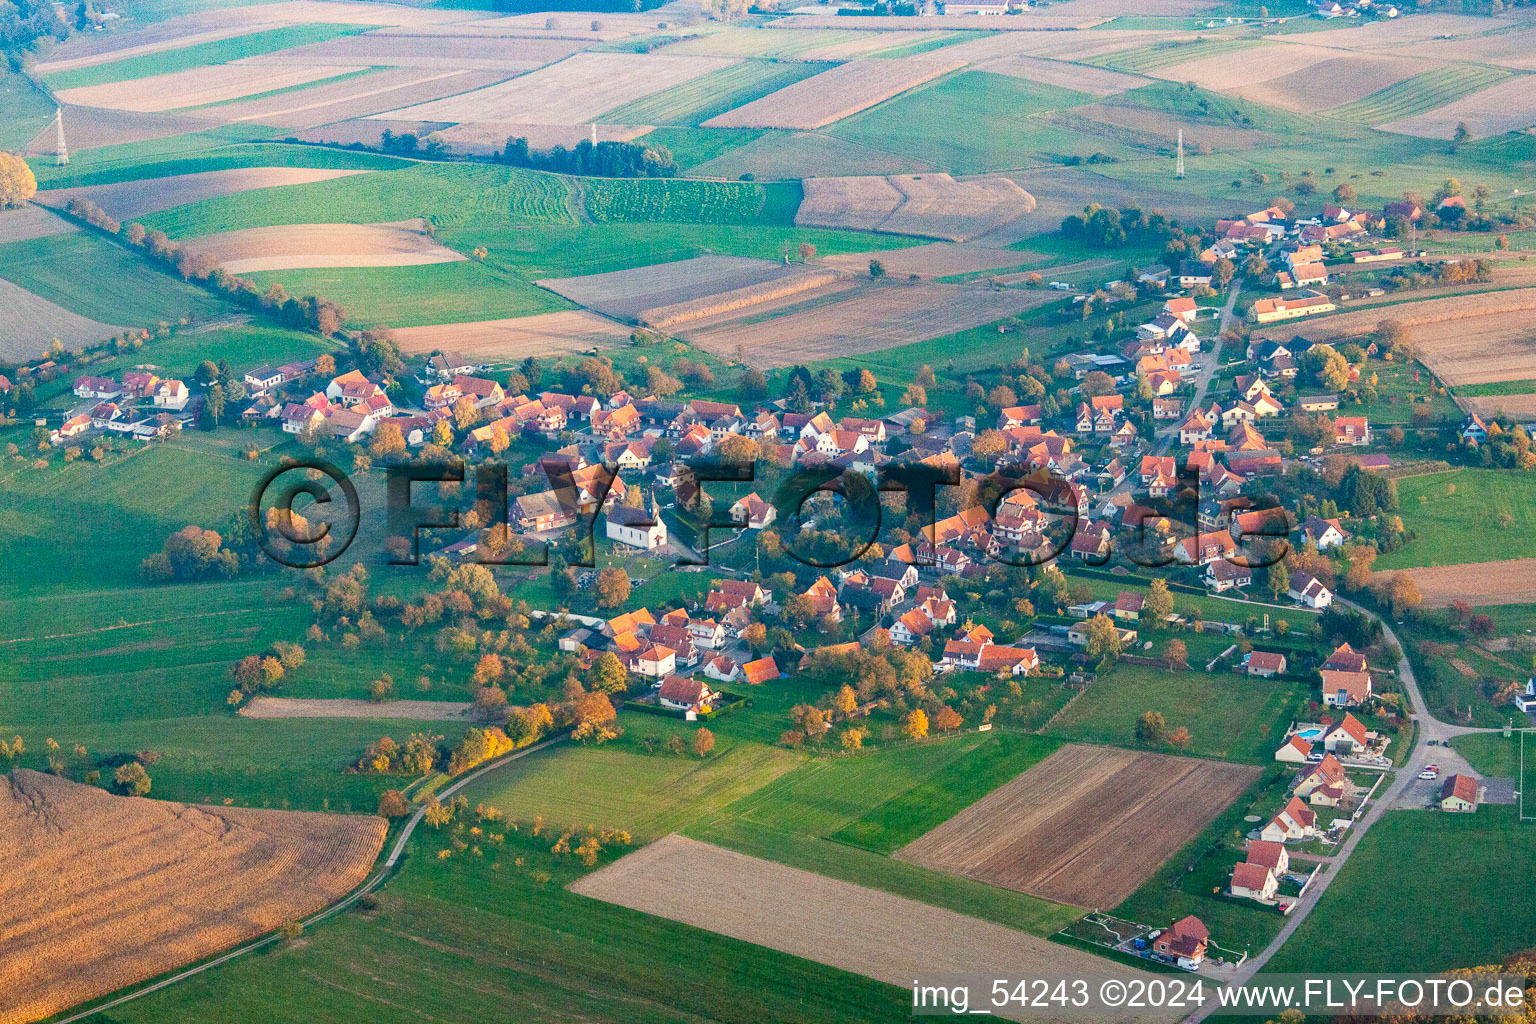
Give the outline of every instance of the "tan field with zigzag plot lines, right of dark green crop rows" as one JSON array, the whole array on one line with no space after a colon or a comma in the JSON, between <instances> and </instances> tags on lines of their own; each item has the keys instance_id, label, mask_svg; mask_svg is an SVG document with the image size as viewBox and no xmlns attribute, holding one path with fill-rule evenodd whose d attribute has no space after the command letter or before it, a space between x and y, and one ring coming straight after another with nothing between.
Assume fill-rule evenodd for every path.
<instances>
[{"instance_id":1,"label":"tan field with zigzag plot lines, right of dark green crop rows","mask_svg":"<svg viewBox=\"0 0 1536 1024\"><path fill-rule=\"evenodd\" d=\"M806 178L794 223L965 241L1034 209L1035 198L1008 178Z\"/></svg>"}]
</instances>

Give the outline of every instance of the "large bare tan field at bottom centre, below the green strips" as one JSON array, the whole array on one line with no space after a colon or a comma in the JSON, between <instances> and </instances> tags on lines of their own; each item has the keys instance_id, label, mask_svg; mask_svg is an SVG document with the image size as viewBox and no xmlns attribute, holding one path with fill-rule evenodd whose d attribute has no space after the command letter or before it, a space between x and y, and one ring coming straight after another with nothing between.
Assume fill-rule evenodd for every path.
<instances>
[{"instance_id":1,"label":"large bare tan field at bottom centre, below the green strips","mask_svg":"<svg viewBox=\"0 0 1536 1024\"><path fill-rule=\"evenodd\" d=\"M1137 973L1000 924L676 834L579 878L571 892L897 986L966 972Z\"/></svg>"}]
</instances>

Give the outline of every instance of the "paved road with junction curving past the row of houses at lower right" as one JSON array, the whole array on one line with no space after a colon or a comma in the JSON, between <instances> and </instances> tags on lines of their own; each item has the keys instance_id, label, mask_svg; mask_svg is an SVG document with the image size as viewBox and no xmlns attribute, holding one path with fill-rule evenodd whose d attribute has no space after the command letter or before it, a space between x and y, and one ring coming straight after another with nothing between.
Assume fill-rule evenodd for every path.
<instances>
[{"instance_id":1,"label":"paved road with junction curving past the row of houses at lower right","mask_svg":"<svg viewBox=\"0 0 1536 1024\"><path fill-rule=\"evenodd\" d=\"M1361 605L1356 605L1355 602L1347 600L1344 597L1335 597L1335 600L1353 611L1362 613L1379 622L1382 634L1389 640L1392 640L1392 643L1398 645L1399 651L1407 649L1402 646L1402 642L1398 639L1398 634L1392 631L1392 625L1387 623L1385 619L1370 611L1369 608L1362 608ZM1444 763L1445 758L1442 757L1441 752L1442 751L1450 752L1450 748L1442 748L1438 745L1435 748L1430 748L1427 740L1445 742L1458 735L1465 735L1467 732L1491 731L1491 729L1475 729L1470 726L1459 726L1448 722L1441 722L1439 718L1432 715L1428 706L1424 703L1424 694L1419 691L1419 682L1413 676L1413 666L1409 663L1407 654L1404 654L1398 660L1398 682L1402 685L1402 691L1409 695L1409 702L1413 706L1413 714L1410 717L1419 725L1418 743L1415 743L1413 751L1410 751L1407 757L1404 757L1404 760L1399 761L1392 781L1387 783L1382 789L1376 791L1376 798L1366 809L1366 814L1361 815L1361 820L1356 821L1353 827L1349 829L1347 838L1338 846L1336 852L1329 858L1330 860L1329 869L1324 874L1318 875L1318 880L1312 884L1312 889L1307 890L1307 895L1301 898L1301 903L1296 906L1296 909L1292 910L1290 915L1286 918L1286 923L1281 926L1279 933L1275 936L1275 940L1263 950L1247 958L1243 967L1240 967L1230 976L1232 984L1243 984L1249 981L1253 975L1256 975L1260 970L1263 970L1264 964L1267 964L1275 956L1275 953L1279 952L1279 947L1286 944L1286 940L1289 940L1296 932L1296 929L1301 927L1301 923L1307 920L1307 915L1312 913L1312 910L1318 906L1318 901L1322 900L1322 894L1329 890L1329 886L1333 884L1333 880L1338 878L1339 872L1344 870L1344 861L1347 861L1350 854L1355 852L1355 847L1359 846L1361 838L1364 838L1366 832L1370 831L1370 826L1375 824L1387 809L1399 803L1402 794L1416 781L1419 769L1432 761ZM1209 1009L1197 1010L1195 1013L1190 1013L1187 1018L1184 1018L1184 1022L1195 1024L1198 1021L1203 1021L1215 1009L1217 1009L1215 1006L1209 1006Z\"/></svg>"}]
</instances>

